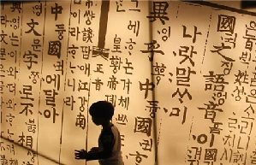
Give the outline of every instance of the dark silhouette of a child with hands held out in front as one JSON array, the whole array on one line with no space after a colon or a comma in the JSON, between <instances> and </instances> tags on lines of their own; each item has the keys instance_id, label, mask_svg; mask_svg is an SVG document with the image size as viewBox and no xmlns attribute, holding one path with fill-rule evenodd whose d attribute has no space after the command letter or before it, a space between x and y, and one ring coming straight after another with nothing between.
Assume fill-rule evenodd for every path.
<instances>
[{"instance_id":1,"label":"dark silhouette of a child with hands held out in front","mask_svg":"<svg viewBox=\"0 0 256 165\"><path fill-rule=\"evenodd\" d=\"M98 160L100 165L123 165L120 133L111 123L114 115L113 105L106 101L98 101L92 103L89 113L93 123L102 126L98 137L98 147L92 147L88 152L74 150L75 159Z\"/></svg>"}]
</instances>

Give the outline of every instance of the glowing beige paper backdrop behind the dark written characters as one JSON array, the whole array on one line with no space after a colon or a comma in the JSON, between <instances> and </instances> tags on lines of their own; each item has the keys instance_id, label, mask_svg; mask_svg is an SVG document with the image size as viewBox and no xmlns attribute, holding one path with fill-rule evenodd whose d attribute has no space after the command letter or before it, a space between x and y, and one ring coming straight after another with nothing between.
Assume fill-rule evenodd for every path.
<instances>
[{"instance_id":1,"label":"glowing beige paper backdrop behind the dark written characters","mask_svg":"<svg viewBox=\"0 0 256 165\"><path fill-rule=\"evenodd\" d=\"M212 9L211 7L198 5L194 3L183 3L183 2L168 2L169 7L166 10L168 13L169 21L165 21L163 25L158 19L152 23L148 22L146 16L149 15L148 2L139 2L138 9L140 12L136 12L129 9L135 9L136 5L131 1L110 1L110 12L109 20L107 26L107 34L105 40L105 48L110 49L109 56L117 56L121 58L122 64L120 70L116 74L113 73L113 68L110 67L110 59L104 60L102 57L92 57L92 52L90 53L88 59L84 59L82 56L81 49L78 49L74 56L69 52L73 44L75 46L96 46L98 44L98 22L100 16L100 1L93 1L93 5L90 9L86 8L86 2L82 1L81 4L74 4L74 1L62 1L62 2L41 2L42 3L42 14L40 16L33 13L33 7L40 3L38 2L24 2L21 3L22 9L21 13L18 10L11 12L11 3L1 4L1 16L7 16L8 19L12 20L14 18L20 18L19 28L14 27L17 25L13 22L9 22L8 26L4 27L1 25L1 31L7 33L5 38L8 44L1 42L1 49L7 51L7 56L5 60L1 60L3 71L1 75L1 83L3 85L2 97L2 109L1 109L1 133L3 138L1 138L1 149L2 161L6 159L7 162L11 160L17 160L19 164L24 164L27 162L33 164L97 164L94 162L83 162L74 160L74 150L86 148L89 150L91 147L97 145L98 133L100 133L100 127L93 125L90 116L87 114L87 106L90 106L93 102L98 100L104 100L109 97L106 95L113 95L116 97L116 112L113 117L113 123L119 128L122 138L122 154L125 164L135 164L136 157L131 156L136 154L138 151L140 154L146 155L146 157L141 156L141 162L138 164L154 164L155 154L157 154L158 164L190 164L188 160L189 154L193 155L193 147L201 147L202 152L200 158L194 159L196 164L207 164L205 162L205 150L206 149L217 149L217 158L215 161L210 161L213 164L253 164L255 163L255 113L251 113L248 126L252 126L252 132L250 134L241 133L241 128L246 127L244 121L247 113L244 112L248 107L246 103L246 94L241 98L241 101L236 102L232 94L235 90L235 74L239 70L247 70L248 79L253 79L253 72L255 72L255 41L253 43L253 50L251 51L252 59L250 65L244 65L241 63L239 56L241 52L245 50L245 39L243 38L246 32L246 25L250 21L255 21L255 16L252 15L242 15L239 12L232 12L225 9ZM51 7L56 5L62 5L63 11L62 15L57 16L57 21L55 21L55 15L51 14ZM117 3L121 4L121 9L125 9L125 12L116 12ZM231 5L231 3L230 3ZM82 13L86 10L90 10L95 14L92 18L92 24L86 25L86 17L82 17ZM80 11L80 23L78 23L77 18L69 15L70 12ZM215 74L223 74L223 68L221 68L221 56L217 53L212 53L213 45L220 45L223 40L221 37L222 32L217 32L217 19L218 15L229 15L235 16L235 33L237 33L235 48L232 50L224 51L227 56L232 56L235 59L233 62L233 68L229 75L225 76L225 80L229 82L229 85L225 86L225 91L227 92L227 99L225 103L221 106L223 112L217 112L217 117L215 121L222 122L221 133L215 134L214 144L209 147L211 133L210 128L212 123L210 120L205 119L205 111L199 110L199 107L204 107L204 103L212 100L213 91L205 91L205 78L203 75L209 74L209 71L214 71ZM2 17L1 17L2 18ZM41 34L41 36L35 36L33 33L26 33L30 28L27 22L34 19L34 21L39 22L39 26L35 29ZM128 30L129 21L140 21L140 31L139 35L136 37L134 32ZM57 56L48 55L48 42L58 40L57 32L55 32L56 25L63 24L66 32L63 32L62 43L62 56L60 59ZM12 25L12 26L11 26ZM151 27L152 26L152 27ZM182 38L182 26L188 27L188 33L193 33L193 26L198 28L198 31L202 35L197 36L195 43L192 43L191 38ZM92 28L93 37L92 43L86 43L82 40L81 33L80 37L76 39L68 33L71 27L79 27L80 29ZM160 33L163 28L170 27L170 38L163 41L163 33ZM152 34L150 29L152 28ZM256 34L256 31L253 31ZM11 35L14 33L19 38L19 45L11 45L13 40L11 40ZM122 53L115 53L114 50L114 38L121 38L120 46ZM158 41L160 45L159 50L164 51L164 55L155 53L154 61L151 63L148 60L150 53L142 53L141 50L146 50L147 43L150 43L151 36L153 39ZM27 63L23 62L23 55L27 50L32 50L31 44L33 44L33 39L39 39L42 45L39 52L36 52L39 56L36 61L37 64L33 64L32 69L27 68ZM134 49L130 50L131 55L128 54L128 49L126 42L132 38L136 44L134 44ZM193 55L193 62L195 63L192 67L189 62L184 62L180 64L182 56L174 56L173 52L178 52L180 46L194 46L194 50L197 51L196 55ZM17 55L15 57L10 56L16 51ZM126 59L128 62L132 62L131 70L133 74L125 74L125 69L122 68L126 64ZM63 74L58 72L54 67L57 62L63 61ZM164 76L161 77L159 84L155 88L155 100L158 101L158 112L155 119L150 117L148 111L149 103L152 101L152 91L148 92L148 97L145 98L145 91L140 91L140 83L145 83L146 79L152 82L151 75L151 65L158 65L162 63L166 66L164 70ZM75 68L70 68L70 63ZM90 64L90 75L82 72L78 66ZM98 64L102 64L104 74L96 73L94 70L97 69ZM177 87L185 89L184 86L176 85L176 68L188 68L196 71L196 74L191 74L190 87L188 91L192 95L192 100L188 97L183 98L183 103L180 103L177 97L172 97L172 94L176 91ZM17 68L18 73L16 77L9 76L9 68ZM37 83L33 83L33 80L29 77L31 76L31 71L39 72L39 78ZM172 73L173 76L170 76ZM44 90L57 90L54 85L49 85L46 83L45 79L47 75L60 74L60 89L57 91L58 95L56 97L56 110L59 115L57 115L56 122L53 123L51 118L45 118L45 109L51 109L50 106L45 103L45 91ZM119 84L116 85L116 90L111 90L108 86L108 81L114 75ZM74 90L68 85L68 80L75 80ZM95 85L92 82L96 79L101 79L104 85L100 91L95 90ZM156 79L156 77L153 77ZM172 82L170 83L170 80ZM129 93L127 89L123 89L123 81L130 80L132 84L130 85ZM153 80L156 83L156 80ZM79 83L87 83L87 87L90 86L90 90L78 91ZM8 84L15 84L15 92L9 91ZM34 98L33 101L21 99L24 97L22 90L24 85L32 85L33 90L31 97ZM253 86L248 84L244 85L247 94L253 90ZM21 91L21 92L20 92ZM74 97L74 109L71 110L70 106L65 104L67 97ZM80 127L75 127L76 116L80 113L80 97L86 97L85 108L86 110L82 112L86 118L86 127L81 129ZM118 103L118 98L129 97L128 109L125 109L121 104ZM13 108L9 108L9 103L14 105ZM20 114L21 110L24 108L21 103L33 103L33 115ZM187 116L186 121L182 124L182 115L180 116L170 116L170 109L175 107L186 106ZM255 109L255 104L252 104L253 109ZM164 109L169 109L166 113ZM182 112L181 112L182 113ZM14 115L15 118L12 121L9 120L9 114ZM119 124L119 115L127 115L126 125ZM150 118L152 119L154 125L151 129L151 136L147 136L146 133L134 132L135 120L137 117ZM236 119L237 123L232 124L232 119ZM28 132L27 124L29 120L34 120L36 125L36 132ZM155 122L154 122L155 121ZM13 133L13 134L12 134ZM17 144L10 143L6 138L14 140L14 142L21 144L21 134L27 137L33 137L33 147L32 150L38 152L38 155L33 157L27 154L27 150L22 148ZM199 144L196 138L202 134L207 136L205 144ZM234 146L229 146L224 144L223 139L226 136L235 136ZM195 137L195 138L194 138ZM241 141L239 140L239 137ZM238 149L237 144L240 142L241 146L246 144L246 140L249 137L250 143L248 144L248 149ZM144 140L152 139L152 150L143 150L142 142ZM232 140L231 140L232 141ZM230 141L230 143L231 143ZM26 141L25 141L26 142ZM26 143L24 146L26 147ZM157 142L157 144L155 144ZM87 146L86 146L87 144ZM15 154L12 150L9 150L9 146L14 145ZM155 152L157 149L158 152ZM224 150L227 150L227 160L222 156ZM193 152L190 153L189 150ZM231 152L232 151L232 152ZM241 157L235 155L240 153ZM233 155L232 155L233 154ZM4 159L3 159L4 157ZM138 159L137 159L138 161Z\"/></svg>"}]
</instances>

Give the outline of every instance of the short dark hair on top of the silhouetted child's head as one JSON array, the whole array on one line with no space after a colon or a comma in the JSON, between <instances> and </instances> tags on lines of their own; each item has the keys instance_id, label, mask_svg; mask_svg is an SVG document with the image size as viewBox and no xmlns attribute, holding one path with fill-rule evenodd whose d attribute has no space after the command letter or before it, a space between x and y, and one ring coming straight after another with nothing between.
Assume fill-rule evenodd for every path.
<instances>
[{"instance_id":1,"label":"short dark hair on top of the silhouetted child's head","mask_svg":"<svg viewBox=\"0 0 256 165\"><path fill-rule=\"evenodd\" d=\"M92 117L100 117L111 120L112 116L114 115L114 106L112 103L107 101L98 101L96 103L92 103L89 113L92 115Z\"/></svg>"}]
</instances>

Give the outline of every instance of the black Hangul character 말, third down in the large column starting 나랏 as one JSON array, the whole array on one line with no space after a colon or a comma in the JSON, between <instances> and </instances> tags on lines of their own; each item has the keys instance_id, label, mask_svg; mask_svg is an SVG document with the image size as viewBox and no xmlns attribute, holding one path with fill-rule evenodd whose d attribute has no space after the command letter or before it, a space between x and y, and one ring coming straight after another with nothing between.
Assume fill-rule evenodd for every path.
<instances>
[{"instance_id":1,"label":"black Hangul character \ub9d0, third down in the large column starting \ub098\ub78f","mask_svg":"<svg viewBox=\"0 0 256 165\"><path fill-rule=\"evenodd\" d=\"M190 86L190 74L196 74L190 67L188 69L176 68L176 85Z\"/></svg>"}]
</instances>

